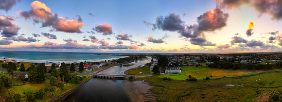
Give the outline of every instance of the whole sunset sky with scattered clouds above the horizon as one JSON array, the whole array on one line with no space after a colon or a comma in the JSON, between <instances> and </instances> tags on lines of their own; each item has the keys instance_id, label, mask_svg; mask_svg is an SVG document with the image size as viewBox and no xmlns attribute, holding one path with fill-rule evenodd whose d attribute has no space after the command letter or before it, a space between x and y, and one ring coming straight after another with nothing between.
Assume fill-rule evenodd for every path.
<instances>
[{"instance_id":1,"label":"whole sunset sky with scattered clouds above the horizon","mask_svg":"<svg viewBox=\"0 0 282 102\"><path fill-rule=\"evenodd\" d=\"M282 0L0 0L0 51L282 51Z\"/></svg>"}]
</instances>

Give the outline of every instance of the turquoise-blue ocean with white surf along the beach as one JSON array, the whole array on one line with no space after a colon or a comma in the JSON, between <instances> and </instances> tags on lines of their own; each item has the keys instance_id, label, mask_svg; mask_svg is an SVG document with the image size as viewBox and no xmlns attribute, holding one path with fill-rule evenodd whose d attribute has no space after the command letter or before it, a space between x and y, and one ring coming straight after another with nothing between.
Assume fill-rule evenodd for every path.
<instances>
[{"instance_id":1,"label":"turquoise-blue ocean with white surf along the beach","mask_svg":"<svg viewBox=\"0 0 282 102\"><path fill-rule=\"evenodd\" d=\"M0 51L0 59L16 60L22 62L99 62L110 59L119 59L122 55L97 55L105 53L85 53L85 52L43 52L43 51ZM110 54L110 53L108 53ZM111 53L113 54L113 53Z\"/></svg>"}]
</instances>

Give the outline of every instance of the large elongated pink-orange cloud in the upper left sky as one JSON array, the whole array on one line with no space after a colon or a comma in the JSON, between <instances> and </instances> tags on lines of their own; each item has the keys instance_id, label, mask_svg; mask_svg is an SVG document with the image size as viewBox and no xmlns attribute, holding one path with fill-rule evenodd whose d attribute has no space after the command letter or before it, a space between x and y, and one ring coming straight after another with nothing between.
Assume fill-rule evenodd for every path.
<instances>
[{"instance_id":1,"label":"large elongated pink-orange cloud in the upper left sky","mask_svg":"<svg viewBox=\"0 0 282 102\"><path fill-rule=\"evenodd\" d=\"M58 17L56 13L53 15L51 9L40 1L32 2L31 8L30 11L19 11L18 14L26 19L32 19L35 23L42 22L42 27L53 27L53 31L81 33L80 29L84 26L84 23L80 23L76 19L67 20Z\"/></svg>"}]
</instances>

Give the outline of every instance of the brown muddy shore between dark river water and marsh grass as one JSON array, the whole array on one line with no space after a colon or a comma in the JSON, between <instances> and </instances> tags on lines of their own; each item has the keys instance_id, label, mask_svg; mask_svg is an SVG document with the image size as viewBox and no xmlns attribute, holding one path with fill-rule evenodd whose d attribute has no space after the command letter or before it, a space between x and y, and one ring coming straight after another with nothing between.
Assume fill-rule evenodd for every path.
<instances>
[{"instance_id":1,"label":"brown muddy shore between dark river water and marsh grass","mask_svg":"<svg viewBox=\"0 0 282 102\"><path fill-rule=\"evenodd\" d=\"M122 85L131 102L156 102L156 97L149 89L154 87L144 81L123 81Z\"/></svg>"}]
</instances>

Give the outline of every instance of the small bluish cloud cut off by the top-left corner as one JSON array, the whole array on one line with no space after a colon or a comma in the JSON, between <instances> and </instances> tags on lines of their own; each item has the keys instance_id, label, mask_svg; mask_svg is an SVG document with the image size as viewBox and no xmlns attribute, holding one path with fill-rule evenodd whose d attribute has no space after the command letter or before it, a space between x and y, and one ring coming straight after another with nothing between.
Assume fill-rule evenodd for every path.
<instances>
[{"instance_id":1,"label":"small bluish cloud cut off by the top-left corner","mask_svg":"<svg viewBox=\"0 0 282 102\"><path fill-rule=\"evenodd\" d=\"M17 2L20 2L20 0L1 0L0 9L8 12Z\"/></svg>"}]
</instances>

